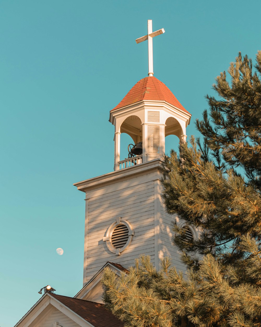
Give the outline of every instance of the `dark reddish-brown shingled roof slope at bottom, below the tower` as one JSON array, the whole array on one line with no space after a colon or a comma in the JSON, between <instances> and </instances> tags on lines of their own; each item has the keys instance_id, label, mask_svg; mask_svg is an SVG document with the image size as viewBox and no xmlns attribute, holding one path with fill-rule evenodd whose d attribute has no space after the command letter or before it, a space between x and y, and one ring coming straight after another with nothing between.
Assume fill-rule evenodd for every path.
<instances>
[{"instance_id":1,"label":"dark reddish-brown shingled roof slope at bottom, below the tower","mask_svg":"<svg viewBox=\"0 0 261 327\"><path fill-rule=\"evenodd\" d=\"M51 294L56 300L62 302L80 317L95 327L123 327L123 322L117 319L101 303L70 298L68 296Z\"/></svg>"}]
</instances>

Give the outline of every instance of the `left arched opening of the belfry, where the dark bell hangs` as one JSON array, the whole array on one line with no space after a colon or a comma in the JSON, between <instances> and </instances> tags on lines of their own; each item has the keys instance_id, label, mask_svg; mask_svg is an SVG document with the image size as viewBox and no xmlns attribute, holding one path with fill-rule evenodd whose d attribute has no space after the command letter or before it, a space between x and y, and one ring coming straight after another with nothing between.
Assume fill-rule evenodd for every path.
<instances>
[{"instance_id":1,"label":"left arched opening of the belfry, where the dark bell hangs","mask_svg":"<svg viewBox=\"0 0 261 327\"><path fill-rule=\"evenodd\" d=\"M124 120L120 127L120 160L128 158L129 144L137 144L142 142L142 125L138 116L129 116Z\"/></svg>"}]
</instances>

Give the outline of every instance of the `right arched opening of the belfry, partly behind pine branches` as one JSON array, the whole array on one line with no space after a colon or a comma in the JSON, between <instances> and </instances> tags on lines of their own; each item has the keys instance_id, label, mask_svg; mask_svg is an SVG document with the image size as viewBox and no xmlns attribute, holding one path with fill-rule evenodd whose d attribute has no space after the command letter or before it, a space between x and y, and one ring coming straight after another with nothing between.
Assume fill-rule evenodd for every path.
<instances>
[{"instance_id":1,"label":"right arched opening of the belfry, partly behind pine branches","mask_svg":"<svg viewBox=\"0 0 261 327\"><path fill-rule=\"evenodd\" d=\"M178 153L178 146L182 135L181 126L174 117L169 117L165 125L165 154L169 155L171 149Z\"/></svg>"}]
</instances>

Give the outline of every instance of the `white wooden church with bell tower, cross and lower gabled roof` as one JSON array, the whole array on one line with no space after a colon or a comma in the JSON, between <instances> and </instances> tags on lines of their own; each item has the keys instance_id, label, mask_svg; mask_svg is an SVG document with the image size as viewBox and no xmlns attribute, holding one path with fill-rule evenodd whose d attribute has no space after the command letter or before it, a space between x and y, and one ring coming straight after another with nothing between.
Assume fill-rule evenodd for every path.
<instances>
[{"instance_id":1,"label":"white wooden church with bell tower, cross and lower gabled roof","mask_svg":"<svg viewBox=\"0 0 261 327\"><path fill-rule=\"evenodd\" d=\"M186 141L191 114L153 76L152 38L162 33L163 29L152 32L148 21L148 34L136 40L148 41L148 77L110 111L109 121L115 126L114 171L74 184L86 195L83 288L74 297L45 289L15 327L122 327L123 322L102 304L104 267L118 275L127 273L134 260L145 254L158 269L161 258L168 256L177 270L185 270L171 242L174 217L165 212L161 199L161 158L166 136ZM121 133L133 140L125 160L120 160ZM187 237L197 237L192 227L184 223L182 227Z\"/></svg>"}]
</instances>

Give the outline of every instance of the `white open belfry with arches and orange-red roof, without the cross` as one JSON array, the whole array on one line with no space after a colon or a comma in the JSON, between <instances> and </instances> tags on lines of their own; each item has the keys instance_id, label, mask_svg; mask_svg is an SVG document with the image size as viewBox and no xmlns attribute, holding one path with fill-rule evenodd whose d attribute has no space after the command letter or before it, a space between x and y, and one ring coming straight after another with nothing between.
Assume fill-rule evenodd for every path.
<instances>
[{"instance_id":1,"label":"white open belfry with arches and orange-red roof, without the cross","mask_svg":"<svg viewBox=\"0 0 261 327\"><path fill-rule=\"evenodd\" d=\"M156 77L138 81L121 102L111 110L109 121L115 126L114 170L161 158L165 136L176 135L186 142L186 127L191 114ZM120 161L120 134L131 136L139 155ZM135 150L132 151L135 154Z\"/></svg>"}]
</instances>

